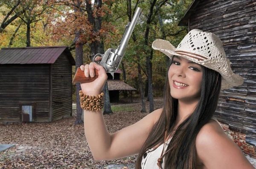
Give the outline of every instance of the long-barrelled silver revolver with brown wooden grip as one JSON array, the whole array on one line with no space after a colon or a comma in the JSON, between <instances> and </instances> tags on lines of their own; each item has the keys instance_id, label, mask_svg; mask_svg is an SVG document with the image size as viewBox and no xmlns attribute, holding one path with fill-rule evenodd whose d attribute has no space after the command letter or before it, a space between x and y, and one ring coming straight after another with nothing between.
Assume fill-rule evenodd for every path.
<instances>
[{"instance_id":1,"label":"long-barrelled silver revolver with brown wooden grip","mask_svg":"<svg viewBox=\"0 0 256 169\"><path fill-rule=\"evenodd\" d=\"M138 18L141 14L141 8L137 7L136 11L134 13L134 16L131 20L131 22L128 22L125 28L125 32L122 35L122 39L116 49L109 48L107 51L105 51L105 54L96 54L93 57L93 62L96 62L98 65L101 65L107 73L111 73L111 75L114 78L114 72L119 68L119 65L122 61L122 58L124 57L125 48L129 42L129 39L131 37L131 34L134 30L134 26L137 23ZM100 61L95 61L95 58L97 56L100 56L102 59ZM87 82L93 82L95 79L97 79L99 76L98 70L95 70L95 76L92 77L85 77L84 71L82 71L79 67L76 70L75 77L73 79L73 83L75 82L81 82L81 83L87 83Z\"/></svg>"}]
</instances>

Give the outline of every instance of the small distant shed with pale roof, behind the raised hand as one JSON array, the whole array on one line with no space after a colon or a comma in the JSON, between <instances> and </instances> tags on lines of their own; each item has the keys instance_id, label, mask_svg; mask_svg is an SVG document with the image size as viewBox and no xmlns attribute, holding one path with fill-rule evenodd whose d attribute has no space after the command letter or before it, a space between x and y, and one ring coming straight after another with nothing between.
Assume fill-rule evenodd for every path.
<instances>
[{"instance_id":1,"label":"small distant shed with pale roof, behind the raised hand","mask_svg":"<svg viewBox=\"0 0 256 169\"><path fill-rule=\"evenodd\" d=\"M127 90L131 94L131 102L132 100L132 91L137 90L134 87L131 87L130 85L127 85L125 82L120 80L120 73L122 71L120 69L116 70L114 72L114 79L113 76L110 73L107 73L108 75L108 91L109 91L109 97L111 102L119 102L119 93L123 90Z\"/></svg>"}]
</instances>

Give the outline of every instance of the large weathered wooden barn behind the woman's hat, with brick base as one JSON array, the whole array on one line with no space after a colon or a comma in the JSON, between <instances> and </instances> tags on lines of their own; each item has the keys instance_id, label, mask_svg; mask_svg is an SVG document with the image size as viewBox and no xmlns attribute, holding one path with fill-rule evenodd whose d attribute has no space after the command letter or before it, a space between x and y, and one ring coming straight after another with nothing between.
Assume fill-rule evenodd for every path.
<instances>
[{"instance_id":1,"label":"large weathered wooden barn behind the woman's hat, with brick base","mask_svg":"<svg viewBox=\"0 0 256 169\"><path fill-rule=\"evenodd\" d=\"M194 0L178 25L221 38L231 68L244 84L221 91L215 117L256 158L256 1Z\"/></svg>"}]
</instances>

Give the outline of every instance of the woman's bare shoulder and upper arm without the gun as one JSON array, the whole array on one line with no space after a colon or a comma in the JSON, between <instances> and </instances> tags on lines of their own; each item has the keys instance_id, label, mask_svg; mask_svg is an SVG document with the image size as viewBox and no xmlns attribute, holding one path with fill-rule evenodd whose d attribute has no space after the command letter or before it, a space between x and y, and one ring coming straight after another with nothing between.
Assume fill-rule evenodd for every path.
<instances>
[{"instance_id":1,"label":"woman's bare shoulder and upper arm without the gun","mask_svg":"<svg viewBox=\"0 0 256 169\"><path fill-rule=\"evenodd\" d=\"M253 169L239 146L217 121L211 120L201 128L195 145L197 157L206 168Z\"/></svg>"}]
</instances>

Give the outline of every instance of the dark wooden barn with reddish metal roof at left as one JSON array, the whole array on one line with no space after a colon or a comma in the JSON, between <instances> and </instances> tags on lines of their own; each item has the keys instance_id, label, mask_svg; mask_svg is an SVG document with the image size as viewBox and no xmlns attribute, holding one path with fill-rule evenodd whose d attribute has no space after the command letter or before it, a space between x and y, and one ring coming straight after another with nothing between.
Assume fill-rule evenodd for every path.
<instances>
[{"instance_id":1,"label":"dark wooden barn with reddish metal roof at left","mask_svg":"<svg viewBox=\"0 0 256 169\"><path fill-rule=\"evenodd\" d=\"M0 50L0 122L50 122L72 113L67 46Z\"/></svg>"}]
</instances>

